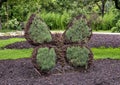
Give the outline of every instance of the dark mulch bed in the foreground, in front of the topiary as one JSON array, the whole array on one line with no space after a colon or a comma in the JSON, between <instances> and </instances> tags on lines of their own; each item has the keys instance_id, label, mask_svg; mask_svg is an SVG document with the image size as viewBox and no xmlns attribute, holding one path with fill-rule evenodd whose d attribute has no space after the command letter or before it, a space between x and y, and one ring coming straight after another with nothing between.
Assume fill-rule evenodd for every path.
<instances>
[{"instance_id":1,"label":"dark mulch bed in the foreground, in front of the topiary","mask_svg":"<svg viewBox=\"0 0 120 85\"><path fill-rule=\"evenodd\" d=\"M40 76L30 59L1 60L0 85L120 85L120 60L96 60L86 72Z\"/></svg>"}]
</instances>

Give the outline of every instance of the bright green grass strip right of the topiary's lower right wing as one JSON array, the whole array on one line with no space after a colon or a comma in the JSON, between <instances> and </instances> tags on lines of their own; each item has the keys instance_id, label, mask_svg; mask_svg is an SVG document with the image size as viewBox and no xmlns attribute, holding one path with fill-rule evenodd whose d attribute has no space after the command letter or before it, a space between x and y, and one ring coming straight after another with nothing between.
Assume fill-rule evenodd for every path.
<instances>
[{"instance_id":1,"label":"bright green grass strip right of the topiary's lower right wing","mask_svg":"<svg viewBox=\"0 0 120 85\"><path fill-rule=\"evenodd\" d=\"M94 59L120 59L120 48L92 48Z\"/></svg>"}]
</instances>

